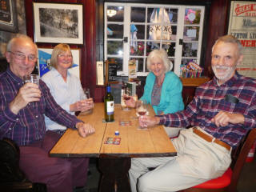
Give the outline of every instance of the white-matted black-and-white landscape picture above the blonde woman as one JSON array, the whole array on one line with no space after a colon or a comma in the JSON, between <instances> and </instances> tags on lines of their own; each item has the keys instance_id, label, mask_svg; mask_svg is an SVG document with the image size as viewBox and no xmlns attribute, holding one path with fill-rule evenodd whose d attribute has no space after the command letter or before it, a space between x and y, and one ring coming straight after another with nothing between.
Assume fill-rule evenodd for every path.
<instances>
[{"instance_id":1,"label":"white-matted black-and-white landscape picture above the blonde woman","mask_svg":"<svg viewBox=\"0 0 256 192\"><path fill-rule=\"evenodd\" d=\"M83 44L82 4L33 5L35 42Z\"/></svg>"}]
</instances>

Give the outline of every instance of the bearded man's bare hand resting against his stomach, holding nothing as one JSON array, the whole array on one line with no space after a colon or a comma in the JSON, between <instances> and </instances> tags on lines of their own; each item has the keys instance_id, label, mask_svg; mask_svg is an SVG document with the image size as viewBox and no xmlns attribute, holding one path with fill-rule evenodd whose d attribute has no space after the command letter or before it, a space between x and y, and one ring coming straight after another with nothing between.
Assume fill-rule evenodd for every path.
<instances>
[{"instance_id":1,"label":"bearded man's bare hand resting against his stomach, holding nothing","mask_svg":"<svg viewBox=\"0 0 256 192\"><path fill-rule=\"evenodd\" d=\"M245 117L242 114L231 114L229 112L220 111L210 121L214 122L216 126L227 126L229 123L243 124Z\"/></svg>"}]
</instances>

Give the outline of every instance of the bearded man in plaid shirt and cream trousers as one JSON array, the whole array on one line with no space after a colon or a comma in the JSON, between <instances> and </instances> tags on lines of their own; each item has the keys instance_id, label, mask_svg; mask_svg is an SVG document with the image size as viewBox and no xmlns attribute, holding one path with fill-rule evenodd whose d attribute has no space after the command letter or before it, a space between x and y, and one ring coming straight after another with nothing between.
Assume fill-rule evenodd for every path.
<instances>
[{"instance_id":1,"label":"bearded man in plaid shirt and cream trousers","mask_svg":"<svg viewBox=\"0 0 256 192\"><path fill-rule=\"evenodd\" d=\"M242 58L237 38L218 38L211 58L215 77L198 87L186 110L139 118L144 127L194 127L182 130L172 140L177 156L132 159L129 174L133 192L183 190L226 171L231 150L256 125L256 81L236 71ZM155 169L150 171L152 167Z\"/></svg>"}]
</instances>

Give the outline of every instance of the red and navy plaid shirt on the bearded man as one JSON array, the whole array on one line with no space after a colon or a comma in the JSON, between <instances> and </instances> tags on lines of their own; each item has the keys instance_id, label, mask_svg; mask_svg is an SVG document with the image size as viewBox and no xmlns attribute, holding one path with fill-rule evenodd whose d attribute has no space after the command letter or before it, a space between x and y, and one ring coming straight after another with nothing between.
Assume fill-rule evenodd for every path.
<instances>
[{"instance_id":1,"label":"red and navy plaid shirt on the bearded man","mask_svg":"<svg viewBox=\"0 0 256 192\"><path fill-rule=\"evenodd\" d=\"M238 103L226 101L227 94L238 98ZM229 123L218 127L210 119L219 111L243 114L245 123ZM247 131L256 125L256 80L236 73L229 81L218 86L217 79L214 78L197 88L194 99L186 110L158 117L160 124L165 126L200 126L214 138L235 147Z\"/></svg>"}]
</instances>

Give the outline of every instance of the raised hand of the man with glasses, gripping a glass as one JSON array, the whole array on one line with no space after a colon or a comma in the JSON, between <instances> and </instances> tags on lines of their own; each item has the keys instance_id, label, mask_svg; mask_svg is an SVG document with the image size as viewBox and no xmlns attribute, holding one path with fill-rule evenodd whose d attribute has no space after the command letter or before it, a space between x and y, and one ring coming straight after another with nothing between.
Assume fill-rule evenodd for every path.
<instances>
[{"instance_id":1,"label":"raised hand of the man with glasses, gripping a glass","mask_svg":"<svg viewBox=\"0 0 256 192\"><path fill-rule=\"evenodd\" d=\"M10 110L14 114L18 114L18 111L24 108L29 102L39 102L41 98L41 90L38 85L27 82L18 90L18 94L12 102L10 102Z\"/></svg>"}]
</instances>

